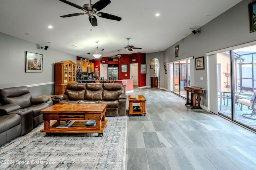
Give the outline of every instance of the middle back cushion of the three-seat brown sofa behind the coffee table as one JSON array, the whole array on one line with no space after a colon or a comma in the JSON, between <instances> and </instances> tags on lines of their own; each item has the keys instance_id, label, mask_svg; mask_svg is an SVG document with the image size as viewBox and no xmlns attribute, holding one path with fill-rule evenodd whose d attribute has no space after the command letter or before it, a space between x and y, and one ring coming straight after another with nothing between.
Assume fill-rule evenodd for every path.
<instances>
[{"instance_id":1,"label":"middle back cushion of the three-seat brown sofa behind the coffee table","mask_svg":"<svg viewBox=\"0 0 256 170\"><path fill-rule=\"evenodd\" d=\"M85 100L102 100L102 84L101 83L87 83L85 90Z\"/></svg>"}]
</instances>

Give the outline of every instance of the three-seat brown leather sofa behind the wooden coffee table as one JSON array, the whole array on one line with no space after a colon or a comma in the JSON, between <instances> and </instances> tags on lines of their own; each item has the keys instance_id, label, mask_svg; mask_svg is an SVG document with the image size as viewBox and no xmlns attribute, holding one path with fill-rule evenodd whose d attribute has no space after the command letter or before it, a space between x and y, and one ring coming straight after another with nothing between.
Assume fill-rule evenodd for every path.
<instances>
[{"instance_id":1,"label":"three-seat brown leather sofa behind the wooden coffee table","mask_svg":"<svg viewBox=\"0 0 256 170\"><path fill-rule=\"evenodd\" d=\"M54 103L106 103L106 116L126 115L125 88L122 83L69 83L64 94L54 97Z\"/></svg>"}]
</instances>

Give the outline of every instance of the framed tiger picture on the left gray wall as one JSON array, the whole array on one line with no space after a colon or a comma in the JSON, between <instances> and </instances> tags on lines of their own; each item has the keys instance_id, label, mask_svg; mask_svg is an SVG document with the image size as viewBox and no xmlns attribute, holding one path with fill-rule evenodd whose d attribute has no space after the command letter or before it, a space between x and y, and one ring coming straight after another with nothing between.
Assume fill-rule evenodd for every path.
<instances>
[{"instance_id":1,"label":"framed tiger picture on the left gray wall","mask_svg":"<svg viewBox=\"0 0 256 170\"><path fill-rule=\"evenodd\" d=\"M42 72L43 55L26 51L25 72Z\"/></svg>"}]
</instances>

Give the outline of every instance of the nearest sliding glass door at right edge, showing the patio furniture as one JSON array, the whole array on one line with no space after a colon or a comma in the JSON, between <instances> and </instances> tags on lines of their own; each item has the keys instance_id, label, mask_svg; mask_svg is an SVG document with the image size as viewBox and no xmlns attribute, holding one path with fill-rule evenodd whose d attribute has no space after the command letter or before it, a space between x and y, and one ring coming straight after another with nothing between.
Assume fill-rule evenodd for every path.
<instances>
[{"instance_id":1,"label":"nearest sliding glass door at right edge, showing the patio furniture","mask_svg":"<svg viewBox=\"0 0 256 170\"><path fill-rule=\"evenodd\" d=\"M255 130L250 98L256 90L256 46L218 53L216 59L218 114Z\"/></svg>"}]
</instances>

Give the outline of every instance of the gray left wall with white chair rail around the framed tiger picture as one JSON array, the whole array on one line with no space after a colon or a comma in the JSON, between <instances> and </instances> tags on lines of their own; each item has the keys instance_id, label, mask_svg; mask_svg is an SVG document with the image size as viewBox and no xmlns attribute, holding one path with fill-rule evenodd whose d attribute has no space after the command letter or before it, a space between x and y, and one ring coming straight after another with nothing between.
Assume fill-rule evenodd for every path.
<instances>
[{"instance_id":1,"label":"gray left wall with white chair rail around the framed tiger picture","mask_svg":"<svg viewBox=\"0 0 256 170\"><path fill-rule=\"evenodd\" d=\"M26 51L43 55L42 72L25 72ZM76 63L76 56L0 32L0 88L28 86L32 96L54 94L54 66L64 60Z\"/></svg>"}]
</instances>

